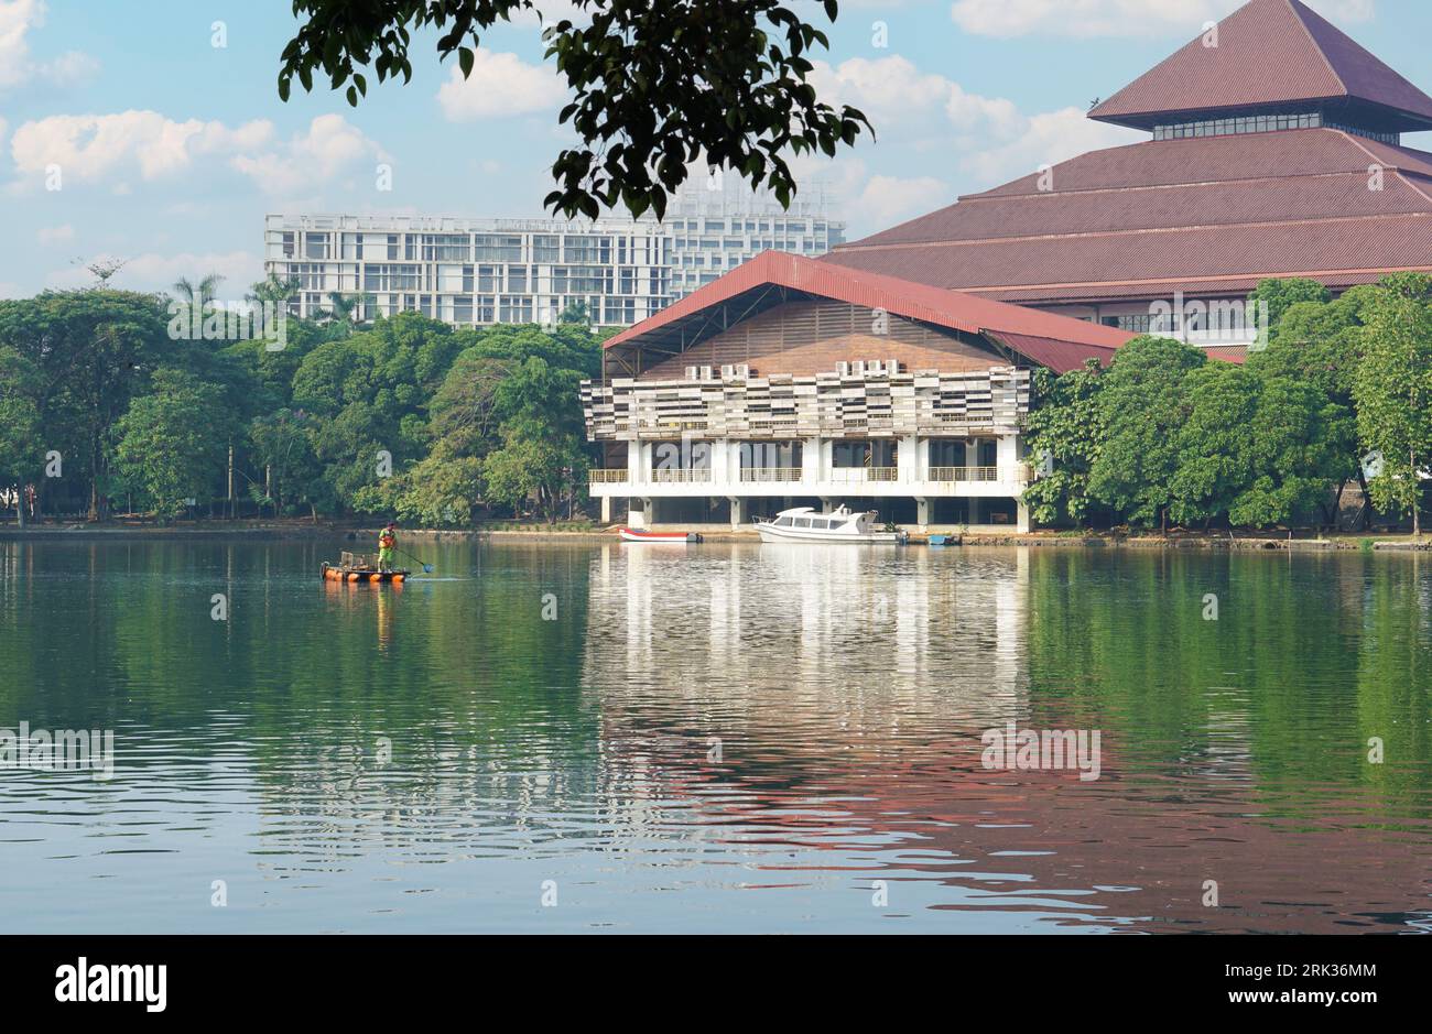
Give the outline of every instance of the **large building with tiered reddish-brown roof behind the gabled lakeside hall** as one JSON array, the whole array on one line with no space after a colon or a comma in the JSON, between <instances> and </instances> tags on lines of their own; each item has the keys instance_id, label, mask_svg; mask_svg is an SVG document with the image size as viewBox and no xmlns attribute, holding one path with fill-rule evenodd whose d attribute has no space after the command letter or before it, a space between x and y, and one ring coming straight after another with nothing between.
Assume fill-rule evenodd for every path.
<instances>
[{"instance_id":1,"label":"large building with tiered reddish-brown roof behind the gabled lakeside hall","mask_svg":"<svg viewBox=\"0 0 1432 1034\"><path fill-rule=\"evenodd\" d=\"M831 261L1211 338L1229 358L1252 339L1229 304L1263 278L1336 291L1432 269L1432 153L1400 146L1432 129L1432 99L1299 0L1253 0L1090 117L1151 139L961 198ZM1169 327L1153 305L1176 295L1187 318Z\"/></svg>"}]
</instances>

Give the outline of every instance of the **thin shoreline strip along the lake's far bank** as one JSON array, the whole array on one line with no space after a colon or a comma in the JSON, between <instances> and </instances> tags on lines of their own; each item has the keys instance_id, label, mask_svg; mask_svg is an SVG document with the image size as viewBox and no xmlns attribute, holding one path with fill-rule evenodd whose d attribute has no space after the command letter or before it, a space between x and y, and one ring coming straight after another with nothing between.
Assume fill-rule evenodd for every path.
<instances>
[{"instance_id":1,"label":"thin shoreline strip along the lake's far bank","mask_svg":"<svg viewBox=\"0 0 1432 1034\"><path fill-rule=\"evenodd\" d=\"M402 536L415 541L613 541L617 526L577 527L493 527L493 528L404 528ZM729 528L702 528L697 526L663 526L669 531L697 531L707 543L758 543L755 531L732 531ZM219 527L180 526L107 526L107 524L44 524L20 528L13 524L0 526L3 541L308 541L339 540L362 541L377 538L378 528L305 526L305 524L235 524ZM959 546L1025 546L1025 547L1080 547L1080 549L1163 549L1163 550L1229 550L1229 551L1286 551L1286 553L1330 553L1330 551L1378 551L1378 553L1426 553L1432 551L1432 537L1413 538L1409 534L1359 534L1340 533L1330 537L1293 538L1272 536L1230 537L1227 533L1186 533L1176 536L1128 536L1111 531L1070 534L1068 531L1032 531L1028 534L961 533L959 528L912 533L912 546L928 546L931 534L951 534ZM948 549L948 547L941 547Z\"/></svg>"}]
</instances>

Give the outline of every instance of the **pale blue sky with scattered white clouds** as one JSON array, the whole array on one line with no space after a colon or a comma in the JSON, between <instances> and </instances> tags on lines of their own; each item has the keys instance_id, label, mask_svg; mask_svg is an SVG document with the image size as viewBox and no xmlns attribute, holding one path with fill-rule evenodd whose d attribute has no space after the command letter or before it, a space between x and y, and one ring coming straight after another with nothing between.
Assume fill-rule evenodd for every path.
<instances>
[{"instance_id":1,"label":"pale blue sky with scattered white clouds","mask_svg":"<svg viewBox=\"0 0 1432 1034\"><path fill-rule=\"evenodd\" d=\"M819 4L792 4L825 24ZM856 239L1144 139L1084 112L1240 4L842 0L812 79L878 136L796 169ZM1309 4L1432 93L1432 3ZM467 82L435 34L415 37L412 82L368 76L357 109L324 83L278 99L296 27L286 0L0 0L0 298L84 285L87 264L116 259L119 286L216 272L219 298L239 299L262 276L268 212L543 215L570 137L536 16L485 33ZM1403 142L1432 150L1432 133Z\"/></svg>"}]
</instances>

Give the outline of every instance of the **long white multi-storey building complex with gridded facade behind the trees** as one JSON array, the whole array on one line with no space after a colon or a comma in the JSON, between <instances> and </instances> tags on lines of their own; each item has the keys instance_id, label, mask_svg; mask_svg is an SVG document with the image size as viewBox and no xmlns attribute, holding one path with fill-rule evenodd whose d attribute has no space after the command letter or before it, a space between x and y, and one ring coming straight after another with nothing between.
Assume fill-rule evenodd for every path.
<instances>
[{"instance_id":1,"label":"long white multi-storey building complex with gridded facade behind the trees","mask_svg":"<svg viewBox=\"0 0 1432 1034\"><path fill-rule=\"evenodd\" d=\"M823 195L812 190L785 211L743 188L699 182L663 222L269 215L263 264L299 282L299 317L328 309L338 292L365 299L369 318L554 322L580 302L593 324L630 327L762 251L813 256L841 243L843 223L822 215Z\"/></svg>"}]
</instances>

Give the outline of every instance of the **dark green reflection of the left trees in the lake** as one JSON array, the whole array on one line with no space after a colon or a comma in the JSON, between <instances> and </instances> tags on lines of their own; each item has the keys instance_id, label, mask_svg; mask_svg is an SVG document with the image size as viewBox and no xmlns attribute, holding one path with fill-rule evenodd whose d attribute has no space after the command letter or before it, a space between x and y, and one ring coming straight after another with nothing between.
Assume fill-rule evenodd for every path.
<instances>
[{"instance_id":1,"label":"dark green reflection of the left trees in the lake","mask_svg":"<svg viewBox=\"0 0 1432 1034\"><path fill-rule=\"evenodd\" d=\"M119 729L120 779L198 789L251 770L265 836L295 844L308 832L285 815L326 815L352 836L379 815L540 826L590 789L590 766L570 763L596 753L591 702L573 692L586 551L503 550L490 574L414 579L400 596L325 590L318 566L338 549L0 544L0 728ZM442 571L487 567L465 543L421 549ZM541 620L546 591L560 620ZM228 622L212 620L213 593Z\"/></svg>"}]
</instances>

